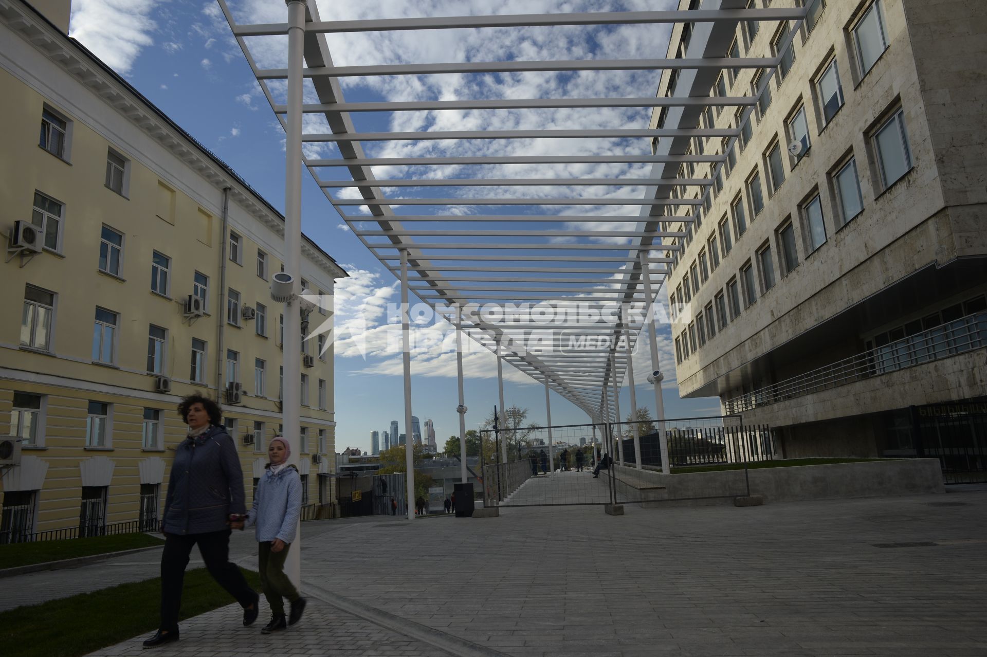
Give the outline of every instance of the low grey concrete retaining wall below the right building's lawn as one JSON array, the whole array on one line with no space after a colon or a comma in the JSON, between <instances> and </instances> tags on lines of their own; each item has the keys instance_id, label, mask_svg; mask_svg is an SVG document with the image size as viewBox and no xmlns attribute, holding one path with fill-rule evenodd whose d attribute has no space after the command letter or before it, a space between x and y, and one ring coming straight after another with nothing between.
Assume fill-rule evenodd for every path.
<instances>
[{"instance_id":1,"label":"low grey concrete retaining wall below the right building's lawn","mask_svg":"<svg viewBox=\"0 0 987 657\"><path fill-rule=\"evenodd\" d=\"M661 474L615 466L618 494L638 499L651 506L683 498L694 499L689 505L731 504L732 498L747 494L744 473ZM938 459L902 459L899 461L865 461L860 463L763 468L749 471L750 494L763 495L765 501L787 502L806 499L843 497L879 497L941 493L943 473ZM627 501L618 499L620 501ZM675 502L683 504L685 502ZM653 505L657 505L653 504Z\"/></svg>"}]
</instances>

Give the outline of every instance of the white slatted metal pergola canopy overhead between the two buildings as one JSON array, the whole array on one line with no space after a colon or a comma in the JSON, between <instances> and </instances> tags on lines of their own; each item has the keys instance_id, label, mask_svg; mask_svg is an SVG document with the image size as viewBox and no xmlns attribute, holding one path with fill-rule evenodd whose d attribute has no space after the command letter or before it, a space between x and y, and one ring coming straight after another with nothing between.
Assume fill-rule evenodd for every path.
<instances>
[{"instance_id":1,"label":"white slatted metal pergola canopy overhead between the two buildings","mask_svg":"<svg viewBox=\"0 0 987 657\"><path fill-rule=\"evenodd\" d=\"M234 18L237 4L226 0L219 3L283 126L286 108L276 99L283 96L287 69L259 67L249 46L255 45L256 52L265 38L280 38L273 44L268 40L265 53L269 56L271 47L286 51L287 24L240 25ZM233 5L232 12L229 4ZM464 315L465 332L598 418L603 417L603 401L611 395L614 381L623 380L627 367L626 347L615 345L613 338L627 335L634 346L645 326L644 309L654 301L645 299L641 254L646 254L653 296L664 282L672 252L680 249L685 231L711 193L738 125L754 109L806 11L803 7L746 9L746 0L695 4L702 8L323 21L315 0L308 2L304 70L308 82L303 111L318 115L313 123L324 131L313 132L307 126L302 141L332 142L339 154L335 159L306 158L309 173L353 234L385 267L400 275L401 251L408 252L410 288L421 301L439 312L456 304L485 309ZM381 4L380 11L387 11L386 3ZM286 10L284 16L286 20ZM727 58L737 27L745 21L757 21L772 32L780 21L794 23L773 56ZM600 51L599 58L563 59L569 53L561 51L559 59L539 61L357 66L335 66L326 38L328 34L410 30L418 31L421 38L441 38L442 30L455 29L581 26L592 30L635 24L664 24L665 29L682 24L691 37L686 50L678 52L676 58L607 59L607 53ZM750 96L711 95L715 94L717 78L727 68L758 68L765 75ZM663 75L675 75L676 83L671 93L660 98L654 96L656 89L650 88L636 90L638 97L631 98L442 98L359 103L347 103L340 85L340 78L351 76L572 75L628 70L662 70ZM384 112L375 115L391 118L403 111L648 108L663 112L657 127L359 132L351 116L358 112ZM729 109L729 114L739 109L740 122L703 127L701 117L707 108ZM716 145L711 141L702 150L689 150L697 138L716 139ZM557 154L538 149L537 155L525 155L518 148L504 155L502 148L496 148L503 140L524 140L520 142L523 145L542 139L557 140L550 144L565 143L567 148L560 148ZM574 150L572 140L576 140ZM463 141L470 142L474 151L491 146L490 154L456 155L455 146ZM420 157L368 157L363 142L372 144L372 152L380 151L380 142L427 143L430 148L423 149L427 154ZM629 176L625 167L613 178L570 174L504 178L503 172L509 174L510 167L516 165L546 165L548 174L565 174L559 167L570 165L639 165L635 168L639 175ZM687 172L697 173L681 177L679 171L684 165ZM347 180L339 179L343 167ZM375 178L373 167L388 167L388 178ZM442 168L452 168L457 175L436 178ZM497 172L496 178L482 177L491 169ZM394 172L405 178L391 178ZM346 192L339 193L341 189ZM631 195L619 195L628 189ZM333 190L337 190L336 196ZM611 195L615 191L618 195ZM628 212L629 206L632 212ZM616 208L618 213L609 214L608 208ZM497 311L504 307L510 310ZM631 312L623 316L615 312L621 308ZM599 319L601 311L603 320ZM576 336L577 345L583 340L581 346L570 348L571 335ZM614 417L612 404L610 407Z\"/></svg>"}]
</instances>

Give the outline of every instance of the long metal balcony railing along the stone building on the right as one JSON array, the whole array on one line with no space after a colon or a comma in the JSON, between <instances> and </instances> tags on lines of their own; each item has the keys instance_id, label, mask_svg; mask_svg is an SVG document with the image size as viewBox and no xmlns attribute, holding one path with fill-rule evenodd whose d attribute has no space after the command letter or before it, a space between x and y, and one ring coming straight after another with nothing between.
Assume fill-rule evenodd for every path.
<instances>
[{"instance_id":1,"label":"long metal balcony railing along the stone building on the right","mask_svg":"<svg viewBox=\"0 0 987 657\"><path fill-rule=\"evenodd\" d=\"M792 400L822 390L897 372L987 345L987 313L974 313L874 347L797 377L723 401L727 414Z\"/></svg>"}]
</instances>

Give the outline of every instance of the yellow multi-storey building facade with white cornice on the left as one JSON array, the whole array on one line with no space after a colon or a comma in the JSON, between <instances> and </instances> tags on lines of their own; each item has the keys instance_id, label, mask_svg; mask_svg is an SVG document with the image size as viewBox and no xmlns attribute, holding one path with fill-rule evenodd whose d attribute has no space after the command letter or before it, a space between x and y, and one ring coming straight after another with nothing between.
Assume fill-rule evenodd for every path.
<instances>
[{"instance_id":1,"label":"yellow multi-storey building facade with white cornice on the left","mask_svg":"<svg viewBox=\"0 0 987 657\"><path fill-rule=\"evenodd\" d=\"M269 280L283 218L38 12L3 5L0 433L21 438L22 459L3 471L0 542L155 527L192 392L222 402L250 500L280 425L283 306ZM307 239L303 258L303 286L323 299L307 327L331 327L346 273ZM335 496L325 339L291 356L307 504Z\"/></svg>"}]
</instances>

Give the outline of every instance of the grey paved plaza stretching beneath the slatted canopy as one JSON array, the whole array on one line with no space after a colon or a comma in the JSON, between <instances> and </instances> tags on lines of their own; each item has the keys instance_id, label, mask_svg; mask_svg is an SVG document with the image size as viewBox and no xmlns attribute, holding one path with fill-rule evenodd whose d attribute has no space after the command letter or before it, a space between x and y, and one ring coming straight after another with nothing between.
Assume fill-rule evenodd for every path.
<instances>
[{"instance_id":1,"label":"grey paved plaza stretching beneath the slatted canopy","mask_svg":"<svg viewBox=\"0 0 987 657\"><path fill-rule=\"evenodd\" d=\"M983 487L625 511L306 523L299 625L271 644L231 605L155 653L987 655Z\"/></svg>"}]
</instances>

